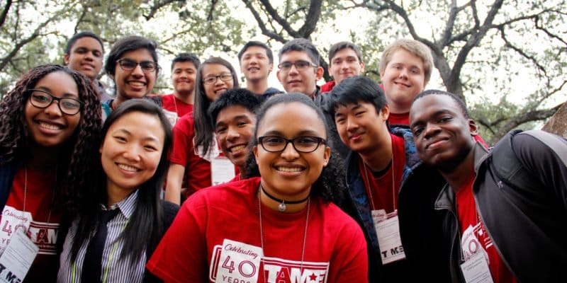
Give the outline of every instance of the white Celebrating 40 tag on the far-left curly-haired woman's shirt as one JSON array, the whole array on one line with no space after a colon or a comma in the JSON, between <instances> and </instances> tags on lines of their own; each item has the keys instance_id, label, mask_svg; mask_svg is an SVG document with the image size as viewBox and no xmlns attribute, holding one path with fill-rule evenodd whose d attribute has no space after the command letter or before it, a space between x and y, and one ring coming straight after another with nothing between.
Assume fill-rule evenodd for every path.
<instances>
[{"instance_id":1,"label":"white Celebrating 40 tag on the far-left curly-haired woman's shirt","mask_svg":"<svg viewBox=\"0 0 567 283\"><path fill-rule=\"evenodd\" d=\"M13 233L18 230L28 233L32 220L30 212L22 212L9 205L4 206L0 221L0 254L10 243Z\"/></svg>"}]
</instances>

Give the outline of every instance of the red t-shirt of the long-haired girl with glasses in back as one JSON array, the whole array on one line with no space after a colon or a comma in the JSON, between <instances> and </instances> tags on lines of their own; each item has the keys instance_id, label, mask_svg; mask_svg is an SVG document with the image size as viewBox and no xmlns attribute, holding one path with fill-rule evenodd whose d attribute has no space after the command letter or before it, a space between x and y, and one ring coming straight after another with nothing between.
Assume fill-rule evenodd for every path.
<instances>
[{"instance_id":1,"label":"red t-shirt of the long-haired girl with glasses in back","mask_svg":"<svg viewBox=\"0 0 567 283\"><path fill-rule=\"evenodd\" d=\"M193 128L193 112L189 112L179 118L173 128L173 150L169 161L185 167L186 195L210 187L210 162L195 154L193 148L193 138L195 129Z\"/></svg>"}]
</instances>

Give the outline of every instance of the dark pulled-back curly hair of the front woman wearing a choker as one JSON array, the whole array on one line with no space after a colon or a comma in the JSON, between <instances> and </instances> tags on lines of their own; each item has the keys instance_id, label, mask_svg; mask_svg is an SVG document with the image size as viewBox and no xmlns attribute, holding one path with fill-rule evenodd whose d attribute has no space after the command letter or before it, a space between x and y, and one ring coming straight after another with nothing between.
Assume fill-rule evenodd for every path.
<instances>
[{"instance_id":1,"label":"dark pulled-back curly hair of the front woman wearing a choker","mask_svg":"<svg viewBox=\"0 0 567 283\"><path fill-rule=\"evenodd\" d=\"M266 100L266 102L258 110L256 115L256 129L254 129L254 139L251 141L251 146L258 145L258 128L262 123L262 120L264 120L266 112L276 105L289 103L301 103L313 109L317 113L317 117L321 124L325 126L325 137L329 137L329 128L325 123L325 116L311 98L305 96L303 93L279 94L272 96L269 100ZM301 124L301 121L297 122ZM257 177L259 175L260 171L254 154L248 154L245 178ZM321 175L319 175L319 178L315 180L315 183L311 186L311 194L320 196L327 202L334 202L337 205L341 205L344 200L345 187L346 184L342 160L337 153L331 151L327 166L323 168Z\"/></svg>"}]
</instances>

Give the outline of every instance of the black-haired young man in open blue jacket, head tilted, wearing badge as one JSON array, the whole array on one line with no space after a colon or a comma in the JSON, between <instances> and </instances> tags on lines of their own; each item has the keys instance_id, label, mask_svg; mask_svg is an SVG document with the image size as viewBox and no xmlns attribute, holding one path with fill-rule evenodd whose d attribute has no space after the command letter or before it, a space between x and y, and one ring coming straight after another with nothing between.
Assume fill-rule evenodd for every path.
<instances>
[{"instance_id":1,"label":"black-haired young man in open blue jacket, head tilted, wearing badge","mask_svg":"<svg viewBox=\"0 0 567 283\"><path fill-rule=\"evenodd\" d=\"M388 131L390 108L375 81L355 76L328 93L346 161L347 201L366 235L370 282L410 282L416 276L398 228L398 194L404 176L419 160L408 129ZM401 209L401 208L400 208Z\"/></svg>"}]
</instances>

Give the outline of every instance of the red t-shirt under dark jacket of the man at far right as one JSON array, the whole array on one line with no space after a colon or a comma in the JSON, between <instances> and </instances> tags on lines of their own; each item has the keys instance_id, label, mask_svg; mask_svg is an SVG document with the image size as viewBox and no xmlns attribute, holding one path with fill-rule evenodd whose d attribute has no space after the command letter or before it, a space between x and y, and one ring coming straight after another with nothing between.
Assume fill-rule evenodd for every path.
<instances>
[{"instance_id":1,"label":"red t-shirt under dark jacket of the man at far right","mask_svg":"<svg viewBox=\"0 0 567 283\"><path fill-rule=\"evenodd\" d=\"M473 197L473 180L474 174L471 174L465 185L456 192L456 207L461 235L469 226L473 226L473 231L478 242L481 243L482 248L488 254L488 268L490 268L490 274L495 283L517 282L512 272L508 270L508 267L506 267L502 258L500 258L492 239L488 236L485 226L478 216L476 202ZM482 253L482 251L479 251L479 253Z\"/></svg>"}]
</instances>

